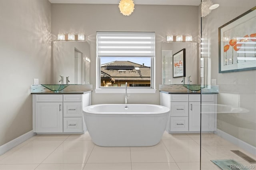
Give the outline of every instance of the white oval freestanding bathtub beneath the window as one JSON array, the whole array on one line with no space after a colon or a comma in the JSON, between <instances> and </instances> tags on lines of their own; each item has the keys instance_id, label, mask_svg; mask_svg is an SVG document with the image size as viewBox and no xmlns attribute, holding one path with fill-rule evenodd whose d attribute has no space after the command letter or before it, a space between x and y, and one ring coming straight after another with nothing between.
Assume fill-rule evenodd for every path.
<instances>
[{"instance_id":1,"label":"white oval freestanding bathtub beneath the window","mask_svg":"<svg viewBox=\"0 0 256 170\"><path fill-rule=\"evenodd\" d=\"M83 108L92 141L98 146L153 146L160 142L170 114L160 105L102 104Z\"/></svg>"}]
</instances>

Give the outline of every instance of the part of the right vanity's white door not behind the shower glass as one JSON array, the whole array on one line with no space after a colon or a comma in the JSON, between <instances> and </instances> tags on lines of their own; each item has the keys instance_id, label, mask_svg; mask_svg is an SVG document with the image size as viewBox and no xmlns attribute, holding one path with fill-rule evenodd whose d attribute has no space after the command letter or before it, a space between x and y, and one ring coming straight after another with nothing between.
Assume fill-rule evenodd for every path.
<instances>
[{"instance_id":1,"label":"part of the right vanity's white door not behind the shower glass","mask_svg":"<svg viewBox=\"0 0 256 170\"><path fill-rule=\"evenodd\" d=\"M188 109L188 130L189 131L200 131L200 110L201 103L194 101L189 102Z\"/></svg>"}]
</instances>

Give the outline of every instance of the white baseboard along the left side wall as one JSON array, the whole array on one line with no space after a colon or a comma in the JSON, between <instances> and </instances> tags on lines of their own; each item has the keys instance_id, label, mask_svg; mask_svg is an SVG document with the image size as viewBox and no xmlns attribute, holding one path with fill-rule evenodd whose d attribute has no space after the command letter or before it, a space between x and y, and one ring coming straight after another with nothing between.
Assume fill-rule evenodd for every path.
<instances>
[{"instance_id":1,"label":"white baseboard along the left side wall","mask_svg":"<svg viewBox=\"0 0 256 170\"><path fill-rule=\"evenodd\" d=\"M36 133L34 133L33 130L31 130L29 132L26 132L25 134L22 134L18 138L15 138L15 139L11 140L10 142L7 142L6 144L3 144L2 146L0 146L0 155L4 154L5 152L10 150L11 148L14 148L18 144L21 144L25 140L28 140L29 138L31 138L35 134Z\"/></svg>"}]
</instances>

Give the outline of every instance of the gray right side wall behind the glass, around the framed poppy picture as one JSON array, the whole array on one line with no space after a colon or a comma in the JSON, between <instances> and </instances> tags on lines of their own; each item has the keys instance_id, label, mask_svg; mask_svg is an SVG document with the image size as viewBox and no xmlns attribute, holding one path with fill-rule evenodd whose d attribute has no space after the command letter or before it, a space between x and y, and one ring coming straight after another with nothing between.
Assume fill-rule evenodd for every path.
<instances>
[{"instance_id":1,"label":"gray right side wall behind the glass, around the framed poppy picture","mask_svg":"<svg viewBox=\"0 0 256 170\"><path fill-rule=\"evenodd\" d=\"M256 146L256 71L218 73L218 28L256 6L255 0L213 0L220 7L202 18L202 38L210 47L208 80L217 79L218 104L243 107L248 113L217 115L217 128ZM208 82L210 83L210 82Z\"/></svg>"}]
</instances>

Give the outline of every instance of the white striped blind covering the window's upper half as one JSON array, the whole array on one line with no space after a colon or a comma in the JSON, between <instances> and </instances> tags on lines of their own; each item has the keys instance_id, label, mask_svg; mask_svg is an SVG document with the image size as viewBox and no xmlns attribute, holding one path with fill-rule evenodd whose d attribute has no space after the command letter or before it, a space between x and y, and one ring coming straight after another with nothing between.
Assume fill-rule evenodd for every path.
<instances>
[{"instance_id":1,"label":"white striped blind covering the window's upper half","mask_svg":"<svg viewBox=\"0 0 256 170\"><path fill-rule=\"evenodd\" d=\"M154 32L97 32L98 56L155 56Z\"/></svg>"}]
</instances>

